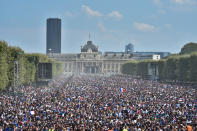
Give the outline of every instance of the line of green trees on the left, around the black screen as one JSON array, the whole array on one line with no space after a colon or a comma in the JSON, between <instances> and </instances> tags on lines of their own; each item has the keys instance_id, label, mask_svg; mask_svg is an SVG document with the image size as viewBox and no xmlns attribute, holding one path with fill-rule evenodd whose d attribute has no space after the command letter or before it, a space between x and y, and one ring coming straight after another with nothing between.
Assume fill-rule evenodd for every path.
<instances>
[{"instance_id":1,"label":"line of green trees on the left, around the black screen","mask_svg":"<svg viewBox=\"0 0 197 131\"><path fill-rule=\"evenodd\" d=\"M39 63L52 62L53 76L62 72L61 63L50 60L43 54L26 54L19 47L8 46L5 41L0 41L0 90L14 86L14 62L18 61L19 85L30 84L37 78Z\"/></svg>"}]
</instances>

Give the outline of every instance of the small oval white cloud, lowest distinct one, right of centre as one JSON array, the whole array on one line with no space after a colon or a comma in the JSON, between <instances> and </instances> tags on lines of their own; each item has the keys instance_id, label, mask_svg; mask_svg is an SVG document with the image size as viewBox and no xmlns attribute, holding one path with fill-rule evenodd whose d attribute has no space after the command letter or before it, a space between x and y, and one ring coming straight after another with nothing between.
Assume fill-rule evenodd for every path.
<instances>
[{"instance_id":1,"label":"small oval white cloud, lowest distinct one, right of centre","mask_svg":"<svg viewBox=\"0 0 197 131\"><path fill-rule=\"evenodd\" d=\"M139 23L139 22L134 22L133 26L142 32L150 32L150 31L155 31L156 27L153 25L145 24L145 23Z\"/></svg>"}]
</instances>

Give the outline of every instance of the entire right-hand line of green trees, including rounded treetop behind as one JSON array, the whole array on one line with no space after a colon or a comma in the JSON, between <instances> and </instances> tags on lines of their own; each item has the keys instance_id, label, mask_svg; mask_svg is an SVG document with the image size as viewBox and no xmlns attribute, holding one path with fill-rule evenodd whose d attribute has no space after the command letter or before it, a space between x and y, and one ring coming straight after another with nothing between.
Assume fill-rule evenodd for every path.
<instances>
[{"instance_id":1,"label":"entire right-hand line of green trees, including rounded treetop behind","mask_svg":"<svg viewBox=\"0 0 197 131\"><path fill-rule=\"evenodd\" d=\"M150 66L148 65L155 65L160 80L197 82L197 52L194 51L195 47L197 47L195 43L186 44L181 49L180 54L171 55L159 61L128 62L122 66L122 73L146 77L149 75Z\"/></svg>"}]
</instances>

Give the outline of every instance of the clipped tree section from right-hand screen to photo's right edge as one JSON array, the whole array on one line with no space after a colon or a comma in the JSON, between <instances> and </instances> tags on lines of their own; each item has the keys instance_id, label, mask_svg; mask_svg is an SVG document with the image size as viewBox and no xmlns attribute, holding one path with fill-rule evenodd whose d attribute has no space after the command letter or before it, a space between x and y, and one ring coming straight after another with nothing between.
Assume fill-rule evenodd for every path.
<instances>
[{"instance_id":1,"label":"clipped tree section from right-hand screen to photo's right edge","mask_svg":"<svg viewBox=\"0 0 197 131\"><path fill-rule=\"evenodd\" d=\"M158 62L161 80L197 82L197 53L171 56Z\"/></svg>"}]
</instances>

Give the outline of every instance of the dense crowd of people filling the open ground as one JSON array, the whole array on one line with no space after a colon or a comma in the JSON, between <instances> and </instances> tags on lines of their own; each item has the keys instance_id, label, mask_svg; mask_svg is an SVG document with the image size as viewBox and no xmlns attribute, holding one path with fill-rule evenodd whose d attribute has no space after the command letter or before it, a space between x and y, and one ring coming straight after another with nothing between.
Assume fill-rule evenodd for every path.
<instances>
[{"instance_id":1,"label":"dense crowd of people filling the open ground","mask_svg":"<svg viewBox=\"0 0 197 131\"><path fill-rule=\"evenodd\" d=\"M0 131L196 131L197 88L72 76L0 93Z\"/></svg>"}]
</instances>

